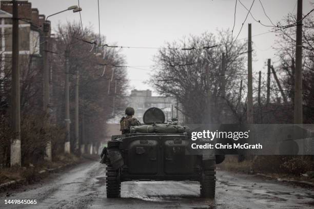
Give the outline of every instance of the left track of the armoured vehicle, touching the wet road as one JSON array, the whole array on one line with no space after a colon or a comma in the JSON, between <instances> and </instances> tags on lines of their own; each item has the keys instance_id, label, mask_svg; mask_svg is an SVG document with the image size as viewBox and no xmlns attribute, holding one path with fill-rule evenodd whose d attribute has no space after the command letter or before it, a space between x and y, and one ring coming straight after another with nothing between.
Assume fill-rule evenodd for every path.
<instances>
[{"instance_id":1,"label":"left track of the armoured vehicle, touching the wet road","mask_svg":"<svg viewBox=\"0 0 314 209\"><path fill-rule=\"evenodd\" d=\"M107 165L106 167L107 198L121 197L121 181L118 177L118 171L112 169L111 165Z\"/></svg>"}]
</instances>

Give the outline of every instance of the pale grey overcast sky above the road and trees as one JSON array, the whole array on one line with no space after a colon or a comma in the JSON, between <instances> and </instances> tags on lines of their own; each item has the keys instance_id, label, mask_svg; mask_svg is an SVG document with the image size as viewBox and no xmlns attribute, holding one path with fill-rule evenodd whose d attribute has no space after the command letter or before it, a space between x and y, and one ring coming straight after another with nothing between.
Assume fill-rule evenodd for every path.
<instances>
[{"instance_id":1,"label":"pale grey overcast sky above the road and trees","mask_svg":"<svg viewBox=\"0 0 314 209\"><path fill-rule=\"evenodd\" d=\"M46 16L65 8L77 5L77 0L29 0L33 8L38 8ZM99 0L101 33L107 37L109 44L133 47L161 47L166 41L180 39L189 34L200 35L217 29L232 28L235 0ZM241 0L249 8L252 0ZM261 0L266 14L273 23L282 20L289 12L297 12L297 0ZM309 12L313 1L303 0L303 13ZM98 31L97 0L80 0L83 26L92 25ZM259 0L253 4L252 14L262 23L270 25ZM247 11L237 5L234 33L238 34ZM65 12L49 18L52 28L58 23L79 21L78 13ZM252 35L264 33L270 28L264 27L249 16L240 33L239 39L247 37L247 24L252 24ZM258 71L265 73L267 58L273 58L275 51L271 46L276 39L274 33L252 37L254 76ZM151 66L155 49L124 49L128 66ZM276 64L276 63L275 63ZM274 65L275 65L274 64ZM150 68L128 69L130 86L138 90L152 89L143 83L149 78Z\"/></svg>"}]
</instances>

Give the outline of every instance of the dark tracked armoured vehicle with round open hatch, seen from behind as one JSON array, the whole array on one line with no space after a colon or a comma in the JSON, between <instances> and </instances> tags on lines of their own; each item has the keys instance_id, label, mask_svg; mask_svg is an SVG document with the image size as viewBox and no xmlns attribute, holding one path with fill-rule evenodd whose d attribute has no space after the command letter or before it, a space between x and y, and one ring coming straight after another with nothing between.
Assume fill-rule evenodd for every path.
<instances>
[{"instance_id":1,"label":"dark tracked armoured vehicle with round open hatch, seen from behind","mask_svg":"<svg viewBox=\"0 0 314 209\"><path fill-rule=\"evenodd\" d=\"M141 126L130 127L130 133L108 141L102 160L107 197L119 198L123 181L192 180L200 182L201 197L214 198L214 153L189 153L188 127L179 126L176 119L165 123L161 109L148 109L143 121Z\"/></svg>"}]
</instances>

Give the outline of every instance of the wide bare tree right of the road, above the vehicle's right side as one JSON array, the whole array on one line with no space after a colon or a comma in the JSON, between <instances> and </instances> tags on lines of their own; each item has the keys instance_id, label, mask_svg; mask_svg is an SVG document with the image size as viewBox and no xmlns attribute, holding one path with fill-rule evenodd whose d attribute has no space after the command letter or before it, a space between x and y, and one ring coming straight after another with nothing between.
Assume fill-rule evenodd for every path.
<instances>
[{"instance_id":1,"label":"wide bare tree right of the road, above the vehicle's right side","mask_svg":"<svg viewBox=\"0 0 314 209\"><path fill-rule=\"evenodd\" d=\"M233 46L230 41L229 31L219 31L218 35L206 32L167 43L155 55L156 72L150 81L159 93L178 98L180 111L190 119L188 122L238 120L230 113L230 107L234 109L239 103L237 95L240 81L246 76L243 55L247 49L242 41ZM226 55L224 71L222 53Z\"/></svg>"}]
</instances>

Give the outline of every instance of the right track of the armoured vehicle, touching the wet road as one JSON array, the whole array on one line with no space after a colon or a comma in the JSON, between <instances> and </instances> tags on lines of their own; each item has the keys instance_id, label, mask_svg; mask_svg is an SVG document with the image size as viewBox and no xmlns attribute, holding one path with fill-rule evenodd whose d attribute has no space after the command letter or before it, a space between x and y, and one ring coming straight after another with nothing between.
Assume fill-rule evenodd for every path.
<instances>
[{"instance_id":1,"label":"right track of the armoured vehicle, touching the wet road","mask_svg":"<svg viewBox=\"0 0 314 209\"><path fill-rule=\"evenodd\" d=\"M210 165L203 170L201 179L201 197L204 198L214 198L215 197L215 187L216 187L216 171L215 162L212 160Z\"/></svg>"}]
</instances>

